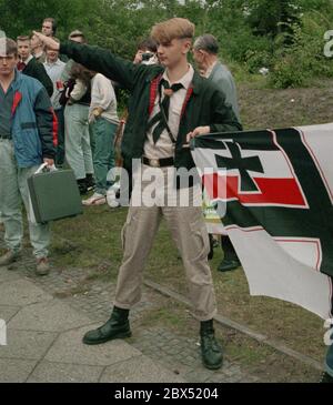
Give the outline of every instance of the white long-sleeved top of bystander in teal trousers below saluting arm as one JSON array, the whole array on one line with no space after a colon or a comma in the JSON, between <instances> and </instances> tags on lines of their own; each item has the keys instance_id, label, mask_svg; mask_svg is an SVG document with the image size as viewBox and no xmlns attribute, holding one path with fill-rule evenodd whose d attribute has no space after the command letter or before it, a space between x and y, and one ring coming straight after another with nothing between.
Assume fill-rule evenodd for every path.
<instances>
[{"instance_id":1,"label":"white long-sleeved top of bystander in teal trousers below saluting arm","mask_svg":"<svg viewBox=\"0 0 333 405\"><path fill-rule=\"evenodd\" d=\"M103 74L97 73L91 79L91 104L89 109L89 120L91 121L92 111L101 108L103 112L101 117L105 120L118 124L119 118L117 113L117 98L113 85Z\"/></svg>"}]
</instances>

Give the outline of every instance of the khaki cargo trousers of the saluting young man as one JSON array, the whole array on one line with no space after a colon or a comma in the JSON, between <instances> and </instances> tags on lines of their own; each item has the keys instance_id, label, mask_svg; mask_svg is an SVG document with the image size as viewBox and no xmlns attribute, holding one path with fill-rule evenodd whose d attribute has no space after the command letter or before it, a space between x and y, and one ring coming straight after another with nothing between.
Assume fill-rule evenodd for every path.
<instances>
[{"instance_id":1,"label":"khaki cargo trousers of the saluting young man","mask_svg":"<svg viewBox=\"0 0 333 405\"><path fill-rule=\"evenodd\" d=\"M142 168L143 172L148 170L145 165ZM163 172L165 180L167 168L158 170ZM149 189L151 185L150 181L140 181L139 184L137 181L134 182L131 206L122 230L124 253L119 270L114 305L130 310L140 302L143 269L161 220L164 219L184 264L193 315L199 321L211 320L216 313L216 304L211 270L208 264L209 236L202 207L198 203L198 206L194 206L198 196L201 201L201 188L174 191L174 199L169 199L169 204L164 204L163 195L168 194L173 184L170 185L169 182L167 185L160 185L154 192L151 188ZM154 195L155 203L151 204L152 206L147 206L142 202L138 203L138 192L144 196L148 189L148 192ZM188 204L184 204L183 194L185 200L189 200ZM186 199L186 194L189 194L189 199ZM176 251L174 251L174 255L176 255Z\"/></svg>"}]
</instances>

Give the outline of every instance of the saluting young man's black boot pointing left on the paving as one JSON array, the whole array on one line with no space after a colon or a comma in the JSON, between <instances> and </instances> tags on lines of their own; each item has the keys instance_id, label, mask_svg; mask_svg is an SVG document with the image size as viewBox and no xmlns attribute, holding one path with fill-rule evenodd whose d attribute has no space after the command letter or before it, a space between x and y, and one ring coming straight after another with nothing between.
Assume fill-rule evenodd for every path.
<instances>
[{"instance_id":1,"label":"saluting young man's black boot pointing left on the paving","mask_svg":"<svg viewBox=\"0 0 333 405\"><path fill-rule=\"evenodd\" d=\"M94 345L131 335L129 310L114 306L110 320L97 330L87 332L83 336L83 343Z\"/></svg>"}]
</instances>

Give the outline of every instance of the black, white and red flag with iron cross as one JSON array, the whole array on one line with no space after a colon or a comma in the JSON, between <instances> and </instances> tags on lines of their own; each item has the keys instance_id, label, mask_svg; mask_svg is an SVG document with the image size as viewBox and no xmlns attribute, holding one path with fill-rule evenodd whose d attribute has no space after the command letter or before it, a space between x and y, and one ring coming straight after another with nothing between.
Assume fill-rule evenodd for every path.
<instances>
[{"instance_id":1,"label":"black, white and red flag with iron cross","mask_svg":"<svg viewBox=\"0 0 333 405\"><path fill-rule=\"evenodd\" d=\"M333 123L192 141L251 295L332 316Z\"/></svg>"}]
</instances>

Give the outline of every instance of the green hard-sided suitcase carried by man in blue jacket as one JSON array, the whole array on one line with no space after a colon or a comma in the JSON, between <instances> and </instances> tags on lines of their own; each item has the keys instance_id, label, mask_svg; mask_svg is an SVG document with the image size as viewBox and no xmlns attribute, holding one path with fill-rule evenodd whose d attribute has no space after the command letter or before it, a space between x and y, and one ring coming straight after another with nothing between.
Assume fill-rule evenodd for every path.
<instances>
[{"instance_id":1,"label":"green hard-sided suitcase carried by man in blue jacket","mask_svg":"<svg viewBox=\"0 0 333 405\"><path fill-rule=\"evenodd\" d=\"M83 213L72 170L36 173L28 179L32 211L37 223L47 223Z\"/></svg>"}]
</instances>

